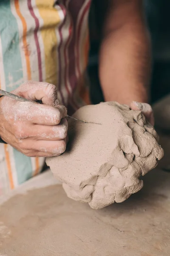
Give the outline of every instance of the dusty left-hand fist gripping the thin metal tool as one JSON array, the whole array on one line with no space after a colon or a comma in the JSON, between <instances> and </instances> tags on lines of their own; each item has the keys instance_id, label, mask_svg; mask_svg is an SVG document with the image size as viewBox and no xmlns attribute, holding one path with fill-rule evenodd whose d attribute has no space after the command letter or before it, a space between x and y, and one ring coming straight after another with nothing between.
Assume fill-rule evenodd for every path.
<instances>
[{"instance_id":1,"label":"dusty left-hand fist gripping the thin metal tool","mask_svg":"<svg viewBox=\"0 0 170 256\"><path fill-rule=\"evenodd\" d=\"M0 137L29 157L50 157L66 148L67 109L53 84L28 81L12 93L43 104L0 98Z\"/></svg>"}]
</instances>

